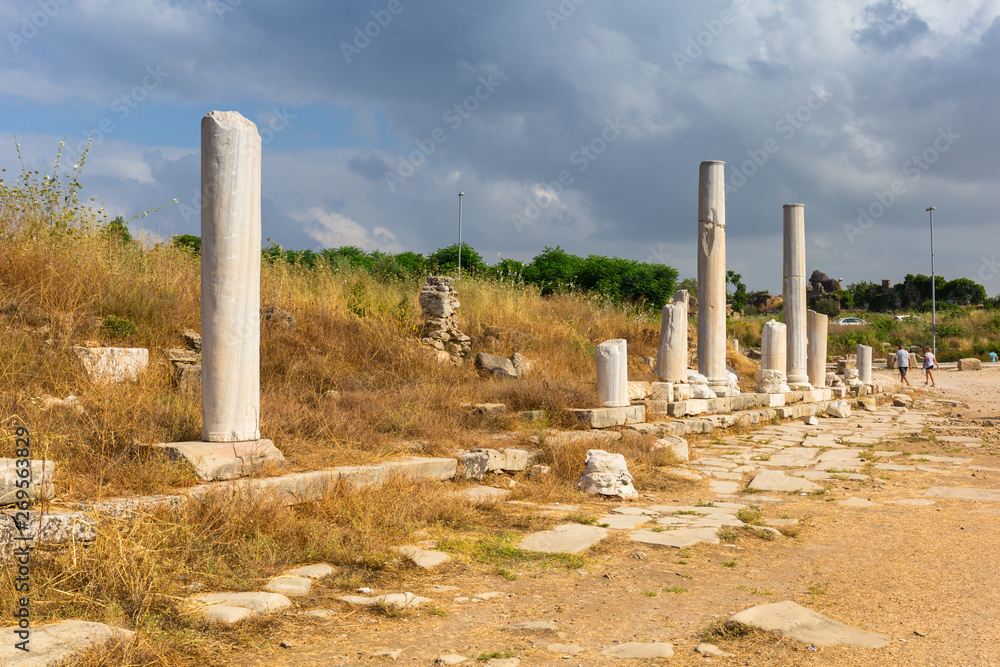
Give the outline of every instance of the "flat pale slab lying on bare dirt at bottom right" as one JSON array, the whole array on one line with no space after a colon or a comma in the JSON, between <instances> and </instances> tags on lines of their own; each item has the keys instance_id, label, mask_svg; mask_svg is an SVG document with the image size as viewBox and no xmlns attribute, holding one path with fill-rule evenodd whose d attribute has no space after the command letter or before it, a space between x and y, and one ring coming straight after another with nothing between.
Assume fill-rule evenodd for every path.
<instances>
[{"instance_id":1,"label":"flat pale slab lying on bare dirt at bottom right","mask_svg":"<svg viewBox=\"0 0 1000 667\"><path fill-rule=\"evenodd\" d=\"M814 646L882 648L890 641L889 635L852 628L791 600L751 607L730 620Z\"/></svg>"}]
</instances>

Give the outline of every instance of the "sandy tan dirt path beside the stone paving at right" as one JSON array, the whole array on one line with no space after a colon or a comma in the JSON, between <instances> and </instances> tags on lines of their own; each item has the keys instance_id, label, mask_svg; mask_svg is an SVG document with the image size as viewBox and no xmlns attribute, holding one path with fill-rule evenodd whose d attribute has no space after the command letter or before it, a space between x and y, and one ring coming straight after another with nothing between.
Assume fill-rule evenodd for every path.
<instances>
[{"instance_id":1,"label":"sandy tan dirt path beside the stone paving at right","mask_svg":"<svg viewBox=\"0 0 1000 667\"><path fill-rule=\"evenodd\" d=\"M910 412L880 410L850 420L822 420L822 428L832 429L831 434L854 429L849 436L852 443L863 441L865 434L877 436L904 424L915 433L902 438L887 435L869 447L895 453L878 457L876 463L891 461L906 470L875 470L868 465L862 472L872 478L834 480L826 494L772 494L779 499L758 502L765 517L799 519L795 537L768 541L741 533L735 542L678 550L638 544L627 538L626 531L615 531L588 554L581 568L525 564L518 566L513 581L474 562L453 561L431 573L403 568L376 592L412 591L433 599L433 611L397 618L359 611L334 600L343 591L319 586L320 591L301 606L332 609L333 617L286 616L272 627L259 650L219 660L233 665L391 664L389 658L371 656L382 649L402 649L399 664L430 665L438 655L458 653L471 658L463 663L469 665L484 664L476 658L490 654L517 657L523 666L606 665L618 661L598 653L615 642L664 641L674 645L673 658L622 664L701 665L708 660L693 648L710 626L754 605L794 600L892 640L882 649L811 650L776 635L753 633L713 640L733 657L715 657L711 664L1000 664L1000 630L993 616L1000 608L1000 502L942 498L933 498L933 504L926 506L886 502L925 499L930 487L1000 489L1000 431L984 422L1000 418L1000 370L939 371L937 379L940 388L918 392ZM788 423L770 426L755 439L763 442L765 435L780 434L794 440L802 432L801 424ZM729 451L728 445L747 444L747 436L742 437L740 441L720 436L714 447L702 443L698 455L718 456ZM971 461L951 464L927 457ZM878 504L864 508L838 504L847 497ZM684 493L647 495L634 505L693 505L707 500L713 498L703 482ZM755 497L736 500L754 503ZM581 502L587 511L602 514L617 505ZM501 595L482 602L453 601L488 591ZM561 634L502 630L524 621L553 622ZM283 640L291 648L279 648ZM545 648L551 643L584 650L570 656Z\"/></svg>"}]
</instances>

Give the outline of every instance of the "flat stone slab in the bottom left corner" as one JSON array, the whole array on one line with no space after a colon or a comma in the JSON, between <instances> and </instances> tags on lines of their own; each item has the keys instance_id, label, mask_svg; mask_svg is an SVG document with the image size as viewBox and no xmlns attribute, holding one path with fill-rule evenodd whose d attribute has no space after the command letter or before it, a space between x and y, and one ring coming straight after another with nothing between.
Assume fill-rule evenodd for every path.
<instances>
[{"instance_id":1,"label":"flat stone slab in the bottom left corner","mask_svg":"<svg viewBox=\"0 0 1000 667\"><path fill-rule=\"evenodd\" d=\"M0 642L0 665L8 667L44 667L61 663L74 654L108 642L130 642L135 636L131 630L116 628L90 621L61 621L31 628L28 651L15 646L20 641L16 625L3 628L5 637Z\"/></svg>"}]
</instances>

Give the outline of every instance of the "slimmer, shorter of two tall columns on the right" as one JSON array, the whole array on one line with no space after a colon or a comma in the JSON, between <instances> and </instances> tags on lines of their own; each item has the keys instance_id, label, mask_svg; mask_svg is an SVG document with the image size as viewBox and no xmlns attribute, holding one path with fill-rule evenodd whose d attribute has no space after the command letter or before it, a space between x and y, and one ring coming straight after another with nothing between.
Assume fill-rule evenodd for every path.
<instances>
[{"instance_id":1,"label":"slimmer, shorter of two tall columns on the right","mask_svg":"<svg viewBox=\"0 0 1000 667\"><path fill-rule=\"evenodd\" d=\"M785 272L783 303L788 327L788 386L792 391L811 389L806 369L806 221L805 206L785 204Z\"/></svg>"}]
</instances>

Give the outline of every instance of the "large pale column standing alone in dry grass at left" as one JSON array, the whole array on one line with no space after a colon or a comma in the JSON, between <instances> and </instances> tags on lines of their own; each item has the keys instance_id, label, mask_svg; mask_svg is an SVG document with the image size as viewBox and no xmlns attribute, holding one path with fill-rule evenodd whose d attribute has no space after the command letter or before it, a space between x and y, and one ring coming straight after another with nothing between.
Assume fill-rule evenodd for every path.
<instances>
[{"instance_id":1,"label":"large pale column standing alone in dry grass at left","mask_svg":"<svg viewBox=\"0 0 1000 667\"><path fill-rule=\"evenodd\" d=\"M202 439L260 438L260 135L201 121Z\"/></svg>"}]
</instances>

